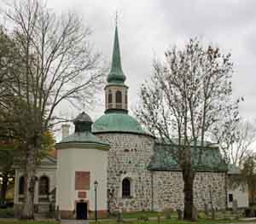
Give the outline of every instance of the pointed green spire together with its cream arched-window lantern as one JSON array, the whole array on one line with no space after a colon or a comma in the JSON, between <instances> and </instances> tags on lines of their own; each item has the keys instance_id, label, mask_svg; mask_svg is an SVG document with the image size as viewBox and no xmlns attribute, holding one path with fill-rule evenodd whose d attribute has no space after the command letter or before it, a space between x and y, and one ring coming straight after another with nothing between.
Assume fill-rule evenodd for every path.
<instances>
[{"instance_id":1,"label":"pointed green spire together with its cream arched-window lantern","mask_svg":"<svg viewBox=\"0 0 256 224\"><path fill-rule=\"evenodd\" d=\"M115 19L115 31L113 40L113 55L111 69L107 78L105 87L106 111L109 112L125 112L127 113L127 89L125 85L125 74L122 69L121 55L119 48L119 32L117 14Z\"/></svg>"}]
</instances>

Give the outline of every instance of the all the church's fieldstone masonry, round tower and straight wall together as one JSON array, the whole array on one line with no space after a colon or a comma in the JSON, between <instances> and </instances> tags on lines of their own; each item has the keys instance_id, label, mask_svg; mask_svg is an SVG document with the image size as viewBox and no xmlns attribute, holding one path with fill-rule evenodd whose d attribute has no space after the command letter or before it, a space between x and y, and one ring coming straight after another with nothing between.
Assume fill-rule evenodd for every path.
<instances>
[{"instance_id":1,"label":"all the church's fieldstone masonry, round tower and straight wall together","mask_svg":"<svg viewBox=\"0 0 256 224\"><path fill-rule=\"evenodd\" d=\"M96 134L111 145L108 154L108 204L111 212L119 210L183 210L183 177L179 171L149 171L154 154L154 139L148 135ZM131 180L131 198L122 198L122 180ZM216 209L225 205L224 173L200 172L195 176L195 206L204 210L212 203Z\"/></svg>"}]
</instances>

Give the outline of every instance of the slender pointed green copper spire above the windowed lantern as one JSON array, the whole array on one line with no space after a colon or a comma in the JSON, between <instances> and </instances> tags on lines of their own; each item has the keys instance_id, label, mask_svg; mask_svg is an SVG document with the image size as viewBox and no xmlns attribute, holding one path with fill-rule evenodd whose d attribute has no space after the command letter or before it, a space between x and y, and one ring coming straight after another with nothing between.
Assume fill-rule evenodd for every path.
<instances>
[{"instance_id":1,"label":"slender pointed green copper spire above the windowed lantern","mask_svg":"<svg viewBox=\"0 0 256 224\"><path fill-rule=\"evenodd\" d=\"M111 70L107 78L108 83L124 83L125 75L121 66L121 56L119 49L119 34L118 27L115 26L114 32L114 42L113 42L113 55L112 55L112 64Z\"/></svg>"}]
</instances>

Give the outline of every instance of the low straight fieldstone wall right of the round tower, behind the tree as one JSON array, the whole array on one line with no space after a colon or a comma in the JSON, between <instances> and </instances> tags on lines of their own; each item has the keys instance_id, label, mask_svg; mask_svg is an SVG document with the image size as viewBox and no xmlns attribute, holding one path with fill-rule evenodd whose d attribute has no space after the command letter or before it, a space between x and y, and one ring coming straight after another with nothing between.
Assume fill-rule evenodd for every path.
<instances>
[{"instance_id":1,"label":"low straight fieldstone wall right of the round tower, behind the tree","mask_svg":"<svg viewBox=\"0 0 256 224\"><path fill-rule=\"evenodd\" d=\"M154 210L172 208L183 210L183 177L177 171L154 171ZM198 210L204 204L212 204L215 208L225 207L224 173L200 172L195 175L194 203Z\"/></svg>"}]
</instances>

